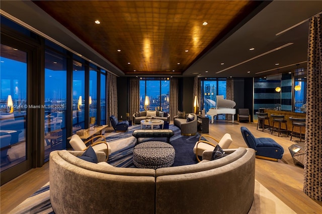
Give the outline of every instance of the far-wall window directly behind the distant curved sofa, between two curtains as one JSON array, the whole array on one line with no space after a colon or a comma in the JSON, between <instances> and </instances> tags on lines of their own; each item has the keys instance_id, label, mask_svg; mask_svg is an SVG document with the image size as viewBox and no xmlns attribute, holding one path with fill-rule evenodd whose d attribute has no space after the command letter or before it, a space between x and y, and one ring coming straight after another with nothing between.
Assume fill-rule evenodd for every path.
<instances>
[{"instance_id":1,"label":"far-wall window directly behind the distant curved sofa, between two curtains","mask_svg":"<svg viewBox=\"0 0 322 214\"><path fill-rule=\"evenodd\" d=\"M144 111L145 97L149 98L149 110L169 112L169 78L140 78L140 111Z\"/></svg>"}]
</instances>

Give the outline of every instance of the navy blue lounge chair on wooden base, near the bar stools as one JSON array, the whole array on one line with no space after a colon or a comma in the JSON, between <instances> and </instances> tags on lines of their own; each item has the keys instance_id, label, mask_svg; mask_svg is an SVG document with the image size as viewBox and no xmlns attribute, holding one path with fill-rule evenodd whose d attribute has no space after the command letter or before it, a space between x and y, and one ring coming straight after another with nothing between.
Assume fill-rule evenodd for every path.
<instances>
[{"instance_id":1,"label":"navy blue lounge chair on wooden base, near the bar stools","mask_svg":"<svg viewBox=\"0 0 322 214\"><path fill-rule=\"evenodd\" d=\"M240 131L247 146L255 150L257 158L277 161L283 157L283 147L272 138L255 138L246 127L240 127Z\"/></svg>"}]
</instances>

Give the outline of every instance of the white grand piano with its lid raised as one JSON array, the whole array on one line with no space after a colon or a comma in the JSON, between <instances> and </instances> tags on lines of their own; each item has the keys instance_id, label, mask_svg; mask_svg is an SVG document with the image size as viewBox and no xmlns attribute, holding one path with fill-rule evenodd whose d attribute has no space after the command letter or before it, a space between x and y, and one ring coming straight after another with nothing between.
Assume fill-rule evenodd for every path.
<instances>
[{"instance_id":1,"label":"white grand piano with its lid raised","mask_svg":"<svg viewBox=\"0 0 322 214\"><path fill-rule=\"evenodd\" d=\"M207 112L207 115L211 116L211 123L213 124L213 118L220 114L229 114L232 115L232 123L234 115L236 114L236 109L233 109L236 105L236 102L229 99L224 99L223 95L217 95L216 108L211 108Z\"/></svg>"}]
</instances>

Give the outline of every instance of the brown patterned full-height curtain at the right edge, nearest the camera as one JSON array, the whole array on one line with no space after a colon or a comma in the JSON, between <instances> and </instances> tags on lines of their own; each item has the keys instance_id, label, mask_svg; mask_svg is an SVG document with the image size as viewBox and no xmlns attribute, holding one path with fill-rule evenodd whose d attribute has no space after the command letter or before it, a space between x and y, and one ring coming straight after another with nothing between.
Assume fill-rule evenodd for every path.
<instances>
[{"instance_id":1,"label":"brown patterned full-height curtain at the right edge, nearest the camera","mask_svg":"<svg viewBox=\"0 0 322 214\"><path fill-rule=\"evenodd\" d=\"M303 191L322 201L322 14L309 19Z\"/></svg>"}]
</instances>

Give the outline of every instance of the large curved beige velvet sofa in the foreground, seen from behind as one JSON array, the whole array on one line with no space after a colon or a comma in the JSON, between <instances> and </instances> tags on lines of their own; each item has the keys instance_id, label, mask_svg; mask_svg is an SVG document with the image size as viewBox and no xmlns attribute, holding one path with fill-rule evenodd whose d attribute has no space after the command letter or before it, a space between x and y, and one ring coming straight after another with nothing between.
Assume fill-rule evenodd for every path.
<instances>
[{"instance_id":1,"label":"large curved beige velvet sofa in the foreground, seen from behind","mask_svg":"<svg viewBox=\"0 0 322 214\"><path fill-rule=\"evenodd\" d=\"M254 199L255 151L160 169L113 167L50 153L50 201L55 213L247 213ZM97 153L104 161L105 153Z\"/></svg>"}]
</instances>

